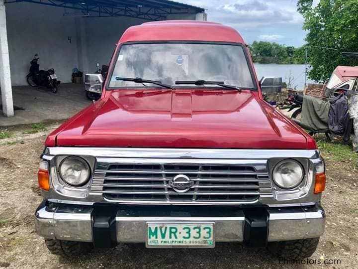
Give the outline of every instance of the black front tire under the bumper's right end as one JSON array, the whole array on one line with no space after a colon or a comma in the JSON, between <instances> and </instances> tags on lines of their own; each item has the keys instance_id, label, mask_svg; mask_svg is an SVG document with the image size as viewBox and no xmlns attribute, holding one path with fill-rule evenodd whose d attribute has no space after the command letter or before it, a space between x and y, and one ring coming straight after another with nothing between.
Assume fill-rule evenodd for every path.
<instances>
[{"instance_id":1,"label":"black front tire under the bumper's right end","mask_svg":"<svg viewBox=\"0 0 358 269\"><path fill-rule=\"evenodd\" d=\"M286 259L306 259L312 256L318 246L319 237L270 242L267 246L268 251L276 256Z\"/></svg>"}]
</instances>

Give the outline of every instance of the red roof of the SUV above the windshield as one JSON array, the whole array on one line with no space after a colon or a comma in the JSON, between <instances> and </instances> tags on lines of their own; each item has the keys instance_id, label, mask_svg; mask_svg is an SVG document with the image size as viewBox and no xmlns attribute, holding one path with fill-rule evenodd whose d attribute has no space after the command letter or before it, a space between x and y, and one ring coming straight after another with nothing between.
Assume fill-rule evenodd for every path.
<instances>
[{"instance_id":1,"label":"red roof of the SUV above the windshield","mask_svg":"<svg viewBox=\"0 0 358 269\"><path fill-rule=\"evenodd\" d=\"M119 40L128 41L222 41L244 44L241 35L233 28L215 22L199 20L164 20L146 22L129 27Z\"/></svg>"}]
</instances>

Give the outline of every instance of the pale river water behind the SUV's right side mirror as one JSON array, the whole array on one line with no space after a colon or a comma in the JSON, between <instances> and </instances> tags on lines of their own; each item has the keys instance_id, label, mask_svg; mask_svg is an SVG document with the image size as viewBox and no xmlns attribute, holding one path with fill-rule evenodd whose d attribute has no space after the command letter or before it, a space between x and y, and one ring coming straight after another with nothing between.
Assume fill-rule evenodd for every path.
<instances>
[{"instance_id":1,"label":"pale river water behind the SUV's right side mirror","mask_svg":"<svg viewBox=\"0 0 358 269\"><path fill-rule=\"evenodd\" d=\"M304 64L260 64L255 63L255 69L260 80L263 76L277 76L282 77L282 82L288 84L291 77L291 88L303 90L304 88ZM312 80L307 79L307 83L314 83Z\"/></svg>"}]
</instances>

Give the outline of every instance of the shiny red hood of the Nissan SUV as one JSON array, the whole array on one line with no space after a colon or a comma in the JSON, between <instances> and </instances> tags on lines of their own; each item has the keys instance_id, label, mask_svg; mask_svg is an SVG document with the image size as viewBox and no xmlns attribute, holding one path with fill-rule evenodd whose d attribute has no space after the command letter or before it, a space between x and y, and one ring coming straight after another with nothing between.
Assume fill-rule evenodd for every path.
<instances>
[{"instance_id":1,"label":"shiny red hood of the Nissan SUV","mask_svg":"<svg viewBox=\"0 0 358 269\"><path fill-rule=\"evenodd\" d=\"M112 91L50 134L46 144L315 148L309 139L249 91L153 89Z\"/></svg>"}]
</instances>

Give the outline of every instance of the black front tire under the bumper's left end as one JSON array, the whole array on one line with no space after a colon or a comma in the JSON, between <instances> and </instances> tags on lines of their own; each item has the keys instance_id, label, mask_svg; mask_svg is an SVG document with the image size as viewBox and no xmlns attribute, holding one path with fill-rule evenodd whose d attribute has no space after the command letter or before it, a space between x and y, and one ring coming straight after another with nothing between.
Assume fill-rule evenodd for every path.
<instances>
[{"instance_id":1,"label":"black front tire under the bumper's left end","mask_svg":"<svg viewBox=\"0 0 358 269\"><path fill-rule=\"evenodd\" d=\"M55 255L63 257L79 257L88 254L92 249L92 243L63 241L57 239L46 239L45 243L47 249Z\"/></svg>"}]
</instances>

